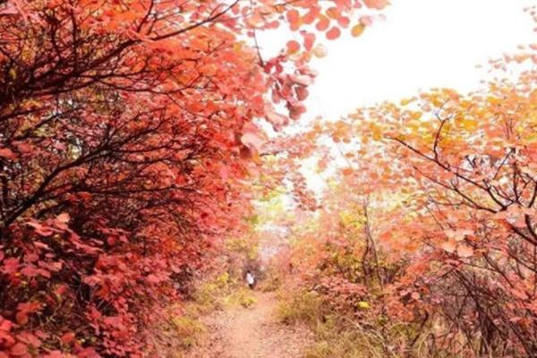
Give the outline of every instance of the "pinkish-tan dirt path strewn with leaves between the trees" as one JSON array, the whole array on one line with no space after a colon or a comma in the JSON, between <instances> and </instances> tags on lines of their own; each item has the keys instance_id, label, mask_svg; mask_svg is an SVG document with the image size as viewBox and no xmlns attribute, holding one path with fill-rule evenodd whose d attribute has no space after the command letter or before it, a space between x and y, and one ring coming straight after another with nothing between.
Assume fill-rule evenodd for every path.
<instances>
[{"instance_id":1,"label":"pinkish-tan dirt path strewn with leaves between the trees","mask_svg":"<svg viewBox=\"0 0 537 358\"><path fill-rule=\"evenodd\" d=\"M206 318L208 338L192 358L300 358L311 340L306 328L277 322L277 298L256 292L257 303Z\"/></svg>"}]
</instances>

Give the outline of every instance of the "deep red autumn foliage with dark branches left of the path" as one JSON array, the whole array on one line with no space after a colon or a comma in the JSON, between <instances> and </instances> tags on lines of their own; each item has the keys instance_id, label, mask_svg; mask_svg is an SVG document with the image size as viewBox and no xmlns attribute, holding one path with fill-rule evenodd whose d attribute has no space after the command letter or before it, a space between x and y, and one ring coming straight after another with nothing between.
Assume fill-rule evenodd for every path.
<instances>
[{"instance_id":1,"label":"deep red autumn foliage with dark branches left of the path","mask_svg":"<svg viewBox=\"0 0 537 358\"><path fill-rule=\"evenodd\" d=\"M362 5L0 1L0 357L150 355L149 323L241 228L252 121L303 114L316 34ZM302 40L262 58L280 22Z\"/></svg>"}]
</instances>

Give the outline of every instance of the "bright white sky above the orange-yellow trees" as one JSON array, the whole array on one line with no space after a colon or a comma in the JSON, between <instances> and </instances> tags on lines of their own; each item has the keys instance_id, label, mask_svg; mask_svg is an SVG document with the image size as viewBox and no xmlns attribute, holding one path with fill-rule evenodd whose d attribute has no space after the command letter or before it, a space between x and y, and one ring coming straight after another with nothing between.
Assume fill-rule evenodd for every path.
<instances>
[{"instance_id":1,"label":"bright white sky above the orange-yellow trees","mask_svg":"<svg viewBox=\"0 0 537 358\"><path fill-rule=\"evenodd\" d=\"M310 89L307 118L353 112L418 90L451 87L474 90L486 77L476 64L516 50L537 38L523 12L529 0L392 0L360 38L327 43L328 56L313 63L320 75ZM348 32L348 31L347 31ZM277 44L260 38L268 51ZM288 34L287 34L288 36Z\"/></svg>"}]
</instances>

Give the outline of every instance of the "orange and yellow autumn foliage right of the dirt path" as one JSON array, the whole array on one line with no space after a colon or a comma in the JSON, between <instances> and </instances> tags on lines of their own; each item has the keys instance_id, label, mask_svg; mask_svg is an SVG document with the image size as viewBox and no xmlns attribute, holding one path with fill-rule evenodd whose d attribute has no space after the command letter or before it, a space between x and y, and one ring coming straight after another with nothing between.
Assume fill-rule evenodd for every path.
<instances>
[{"instance_id":1,"label":"orange and yellow autumn foliage right of the dirt path","mask_svg":"<svg viewBox=\"0 0 537 358\"><path fill-rule=\"evenodd\" d=\"M315 160L328 183L316 212L280 223L286 260L381 356L537 354L536 58L491 61L519 75L485 90L318 121L279 158Z\"/></svg>"}]
</instances>

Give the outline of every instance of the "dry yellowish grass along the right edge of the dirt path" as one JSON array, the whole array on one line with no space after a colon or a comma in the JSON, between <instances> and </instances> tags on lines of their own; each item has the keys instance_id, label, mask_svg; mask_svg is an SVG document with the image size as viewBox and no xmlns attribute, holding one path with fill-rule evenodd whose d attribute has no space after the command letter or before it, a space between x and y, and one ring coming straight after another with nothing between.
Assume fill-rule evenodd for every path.
<instances>
[{"instance_id":1,"label":"dry yellowish grass along the right edge of the dirt path","mask_svg":"<svg viewBox=\"0 0 537 358\"><path fill-rule=\"evenodd\" d=\"M314 342L306 347L303 358L431 358L419 341L400 354L401 346L409 345L413 328L388 324L381 317L368 316L363 307L358 319L349 312L337 311L322 295L303 290L279 294L278 319L283 323L305 324L314 333Z\"/></svg>"}]
</instances>

